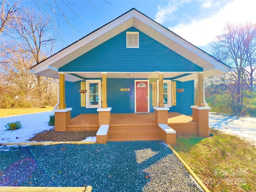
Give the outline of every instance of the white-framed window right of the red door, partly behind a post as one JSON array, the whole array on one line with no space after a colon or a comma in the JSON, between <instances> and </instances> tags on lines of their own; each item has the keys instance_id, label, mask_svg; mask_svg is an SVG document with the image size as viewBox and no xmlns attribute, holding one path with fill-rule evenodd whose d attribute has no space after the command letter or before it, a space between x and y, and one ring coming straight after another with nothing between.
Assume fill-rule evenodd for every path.
<instances>
[{"instance_id":1,"label":"white-framed window right of the red door, partly behind a post","mask_svg":"<svg viewBox=\"0 0 256 192\"><path fill-rule=\"evenodd\" d=\"M171 107L172 106L172 81L171 80L164 80L163 83L164 88L164 96L162 98L164 106L165 107ZM157 80L157 96L159 95L159 80ZM159 103L159 98L157 98L157 103Z\"/></svg>"}]
</instances>

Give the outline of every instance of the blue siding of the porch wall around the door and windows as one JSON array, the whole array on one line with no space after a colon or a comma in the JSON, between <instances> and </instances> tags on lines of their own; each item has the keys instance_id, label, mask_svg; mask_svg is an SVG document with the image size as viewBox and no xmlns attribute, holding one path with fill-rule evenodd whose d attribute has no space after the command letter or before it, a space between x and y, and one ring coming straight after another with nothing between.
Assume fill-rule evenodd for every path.
<instances>
[{"instance_id":1,"label":"blue siding of the porch wall around the door and windows","mask_svg":"<svg viewBox=\"0 0 256 192\"><path fill-rule=\"evenodd\" d=\"M176 93L176 106L170 107L170 112L192 115L191 105L194 105L194 81L178 82L177 88L184 88L184 92ZM130 88L130 91L120 91L121 88ZM65 82L66 107L73 108L71 117L80 114L98 113L96 108L81 107L80 81ZM107 103L112 107L111 113L134 113L134 79L107 79ZM150 112L152 106L152 84L150 84Z\"/></svg>"}]
</instances>

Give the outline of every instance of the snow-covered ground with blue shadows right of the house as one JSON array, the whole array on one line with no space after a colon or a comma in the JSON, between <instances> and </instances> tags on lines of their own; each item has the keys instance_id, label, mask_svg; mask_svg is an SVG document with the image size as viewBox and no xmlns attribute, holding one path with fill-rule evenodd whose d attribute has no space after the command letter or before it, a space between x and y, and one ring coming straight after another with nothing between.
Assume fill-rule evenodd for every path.
<instances>
[{"instance_id":1,"label":"snow-covered ground with blue shadows right of the house","mask_svg":"<svg viewBox=\"0 0 256 192\"><path fill-rule=\"evenodd\" d=\"M256 146L256 118L209 113L209 127L239 136Z\"/></svg>"}]
</instances>

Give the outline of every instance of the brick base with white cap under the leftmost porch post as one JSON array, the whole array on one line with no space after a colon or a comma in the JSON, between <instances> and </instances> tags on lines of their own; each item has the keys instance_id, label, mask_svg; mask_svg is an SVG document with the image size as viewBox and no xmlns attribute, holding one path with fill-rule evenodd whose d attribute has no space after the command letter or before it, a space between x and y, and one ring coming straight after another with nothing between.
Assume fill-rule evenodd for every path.
<instances>
[{"instance_id":1,"label":"brick base with white cap under the leftmost porch post","mask_svg":"<svg viewBox=\"0 0 256 192\"><path fill-rule=\"evenodd\" d=\"M67 126L70 125L71 120L71 110L72 108L66 109L55 109L55 131L57 132L66 132Z\"/></svg>"}]
</instances>

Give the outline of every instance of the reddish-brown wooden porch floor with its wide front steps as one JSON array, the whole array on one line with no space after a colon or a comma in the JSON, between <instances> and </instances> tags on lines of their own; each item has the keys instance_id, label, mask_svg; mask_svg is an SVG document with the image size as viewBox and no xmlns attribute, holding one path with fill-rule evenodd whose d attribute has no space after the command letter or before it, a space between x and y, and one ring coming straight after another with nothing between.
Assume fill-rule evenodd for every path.
<instances>
[{"instance_id":1,"label":"reddish-brown wooden porch floor with its wide front steps","mask_svg":"<svg viewBox=\"0 0 256 192\"><path fill-rule=\"evenodd\" d=\"M168 125L177 134L198 132L198 123L192 117L177 112L168 113ZM68 131L97 131L98 114L80 114L71 119ZM108 141L161 140L155 114L110 114Z\"/></svg>"}]
</instances>

